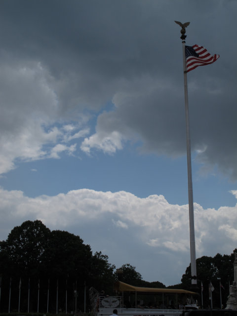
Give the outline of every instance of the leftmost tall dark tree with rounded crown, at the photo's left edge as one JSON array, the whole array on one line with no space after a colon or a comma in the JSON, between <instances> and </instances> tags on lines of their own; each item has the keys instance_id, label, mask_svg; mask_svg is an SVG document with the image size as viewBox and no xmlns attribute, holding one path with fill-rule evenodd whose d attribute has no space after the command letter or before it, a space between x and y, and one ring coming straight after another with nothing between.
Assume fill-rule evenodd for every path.
<instances>
[{"instance_id":1,"label":"leftmost tall dark tree with rounded crown, at the photo's left edge","mask_svg":"<svg viewBox=\"0 0 237 316\"><path fill-rule=\"evenodd\" d=\"M7 309L9 287L12 308L18 307L20 286L22 297L27 297L28 283L31 282L31 295L37 297L42 258L48 247L50 234L50 230L39 220L26 221L14 227L7 239L0 242L1 309ZM33 300L31 303L36 305ZM21 307L27 309L27 300L22 302Z\"/></svg>"}]
</instances>

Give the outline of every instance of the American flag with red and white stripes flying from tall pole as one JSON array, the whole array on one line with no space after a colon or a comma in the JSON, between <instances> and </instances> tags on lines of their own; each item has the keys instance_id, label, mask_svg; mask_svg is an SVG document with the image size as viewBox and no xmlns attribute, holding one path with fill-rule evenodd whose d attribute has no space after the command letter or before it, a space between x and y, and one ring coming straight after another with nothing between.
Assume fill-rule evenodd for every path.
<instances>
[{"instance_id":1,"label":"American flag with red and white stripes flying from tall pole","mask_svg":"<svg viewBox=\"0 0 237 316\"><path fill-rule=\"evenodd\" d=\"M198 66L204 66L214 63L220 55L211 56L205 47L194 45L185 46L187 73Z\"/></svg>"}]
</instances>

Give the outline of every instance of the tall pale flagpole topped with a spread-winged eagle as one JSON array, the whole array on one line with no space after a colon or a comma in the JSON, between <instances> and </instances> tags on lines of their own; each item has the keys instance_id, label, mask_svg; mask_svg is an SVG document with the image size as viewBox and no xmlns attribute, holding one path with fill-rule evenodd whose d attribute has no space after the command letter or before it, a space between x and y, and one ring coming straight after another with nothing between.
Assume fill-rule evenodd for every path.
<instances>
[{"instance_id":1,"label":"tall pale flagpole topped with a spread-winged eagle","mask_svg":"<svg viewBox=\"0 0 237 316\"><path fill-rule=\"evenodd\" d=\"M187 67L185 53L185 28L190 24L184 24L175 21L181 29L181 40L183 45L183 66L184 66L184 98L185 98L185 114L186 114L186 142L187 142L187 165L188 165L188 194L189 194L189 229L190 229L190 257L191 257L191 282L197 285L197 268L196 268L196 248L195 248L195 232L194 232L194 198L193 198L193 181L192 181L192 164L191 164L191 142L189 127L189 100L188 100L188 83L187 83Z\"/></svg>"}]
</instances>

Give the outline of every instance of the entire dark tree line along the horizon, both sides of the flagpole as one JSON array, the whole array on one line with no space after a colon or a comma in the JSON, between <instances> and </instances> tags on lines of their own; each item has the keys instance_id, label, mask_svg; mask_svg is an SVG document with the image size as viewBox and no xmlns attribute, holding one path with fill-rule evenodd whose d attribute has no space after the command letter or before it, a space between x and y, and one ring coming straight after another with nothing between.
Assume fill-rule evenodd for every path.
<instances>
[{"instance_id":1,"label":"entire dark tree line along the horizon, both sides of the flagpole","mask_svg":"<svg viewBox=\"0 0 237 316\"><path fill-rule=\"evenodd\" d=\"M237 249L234 250L237 252ZM208 282L225 288L223 303L233 282L234 253L197 259L197 279L203 284L203 305L207 307ZM120 273L119 273L120 272ZM88 312L88 288L114 295L113 283L146 287L165 287L159 281L147 282L136 268L124 264L116 270L101 251L91 251L79 236L66 231L50 231L41 221L26 221L0 241L0 312L54 313ZM187 267L181 283L170 287L191 289L191 269ZM199 290L198 290L199 291ZM213 306L218 304L213 291ZM218 307L218 306L217 306Z\"/></svg>"}]
</instances>

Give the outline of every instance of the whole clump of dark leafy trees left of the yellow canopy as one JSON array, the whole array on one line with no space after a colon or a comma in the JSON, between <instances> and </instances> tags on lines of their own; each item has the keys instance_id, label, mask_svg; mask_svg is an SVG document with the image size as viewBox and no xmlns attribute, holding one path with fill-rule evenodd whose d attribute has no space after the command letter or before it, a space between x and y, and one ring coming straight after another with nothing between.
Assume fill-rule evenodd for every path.
<instances>
[{"instance_id":1,"label":"whole clump of dark leafy trees left of the yellow canopy","mask_svg":"<svg viewBox=\"0 0 237 316\"><path fill-rule=\"evenodd\" d=\"M67 307L83 309L85 286L102 287L112 292L115 266L101 252L92 256L89 245L79 236L65 231L52 231L39 220L26 221L15 227L5 241L0 242L0 274L2 275L1 297L7 310L9 284L11 284L11 308L18 308L18 292L21 284L22 297L28 298L30 286L30 311L35 312L40 291L40 310L47 309L47 294L50 291L49 311L56 310L56 293L60 309ZM21 280L21 281L20 281ZM21 307L27 310L27 299Z\"/></svg>"}]
</instances>

